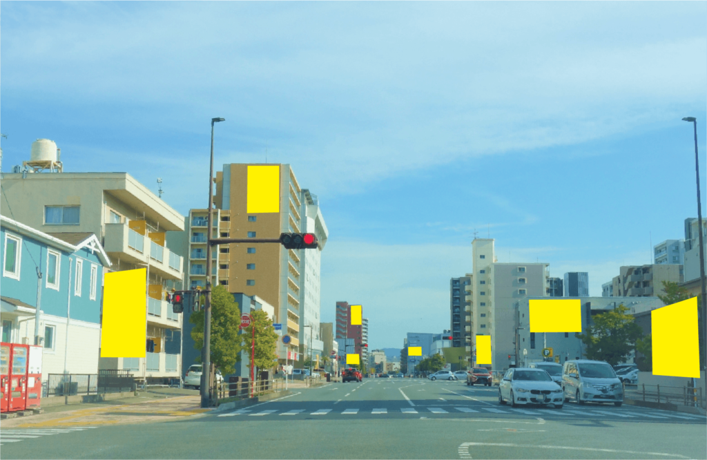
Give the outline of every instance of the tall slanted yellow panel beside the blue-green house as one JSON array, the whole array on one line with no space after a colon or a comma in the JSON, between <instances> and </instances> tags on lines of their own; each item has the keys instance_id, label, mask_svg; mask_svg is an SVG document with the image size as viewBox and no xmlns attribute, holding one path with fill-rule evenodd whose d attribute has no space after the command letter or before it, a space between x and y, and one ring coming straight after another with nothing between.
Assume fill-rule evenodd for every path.
<instances>
[{"instance_id":1,"label":"tall slanted yellow panel beside the blue-green house","mask_svg":"<svg viewBox=\"0 0 707 460\"><path fill-rule=\"evenodd\" d=\"M145 268L105 274L100 357L145 357L146 275Z\"/></svg>"}]
</instances>

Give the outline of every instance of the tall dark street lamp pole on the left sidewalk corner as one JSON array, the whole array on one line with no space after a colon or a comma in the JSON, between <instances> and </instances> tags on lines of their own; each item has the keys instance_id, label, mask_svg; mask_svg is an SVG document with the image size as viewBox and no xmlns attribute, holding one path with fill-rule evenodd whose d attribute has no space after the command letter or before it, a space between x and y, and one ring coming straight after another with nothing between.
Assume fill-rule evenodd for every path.
<instances>
[{"instance_id":1,"label":"tall dark street lamp pole on the left sidewalk corner","mask_svg":"<svg viewBox=\"0 0 707 460\"><path fill-rule=\"evenodd\" d=\"M204 302L204 346L201 347L201 407L208 408L211 403L211 218L214 207L214 123L226 121L224 118L211 118L211 161L209 161L209 208L206 214L206 301Z\"/></svg>"}]
</instances>

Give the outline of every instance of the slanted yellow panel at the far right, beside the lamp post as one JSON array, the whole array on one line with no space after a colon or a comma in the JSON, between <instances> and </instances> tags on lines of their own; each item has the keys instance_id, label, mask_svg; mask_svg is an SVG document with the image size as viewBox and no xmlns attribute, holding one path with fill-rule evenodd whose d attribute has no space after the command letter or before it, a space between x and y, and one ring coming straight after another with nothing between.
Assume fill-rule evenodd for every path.
<instances>
[{"instance_id":1,"label":"slanted yellow panel at the far right, beside the lamp post","mask_svg":"<svg viewBox=\"0 0 707 460\"><path fill-rule=\"evenodd\" d=\"M650 312L653 375L700 376L697 297Z\"/></svg>"}]
</instances>

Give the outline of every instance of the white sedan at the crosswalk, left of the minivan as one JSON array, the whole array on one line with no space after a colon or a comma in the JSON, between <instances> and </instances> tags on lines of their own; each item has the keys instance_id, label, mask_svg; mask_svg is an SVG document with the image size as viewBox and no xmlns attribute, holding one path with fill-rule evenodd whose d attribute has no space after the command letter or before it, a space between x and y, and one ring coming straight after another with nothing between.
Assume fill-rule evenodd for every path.
<instances>
[{"instance_id":1,"label":"white sedan at the crosswalk, left of the minivan","mask_svg":"<svg viewBox=\"0 0 707 460\"><path fill-rule=\"evenodd\" d=\"M553 404L556 408L562 408L562 387L542 369L508 369L498 386L498 403L506 404L507 401L511 407Z\"/></svg>"}]
</instances>

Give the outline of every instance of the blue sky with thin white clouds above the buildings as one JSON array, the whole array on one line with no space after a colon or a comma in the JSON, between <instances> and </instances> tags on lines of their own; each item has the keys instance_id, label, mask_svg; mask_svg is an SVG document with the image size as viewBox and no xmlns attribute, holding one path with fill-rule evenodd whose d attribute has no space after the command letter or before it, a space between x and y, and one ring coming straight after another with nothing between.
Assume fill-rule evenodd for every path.
<instances>
[{"instance_id":1,"label":"blue sky with thin white clouds above the buildings","mask_svg":"<svg viewBox=\"0 0 707 460\"><path fill-rule=\"evenodd\" d=\"M474 229L499 262L589 272L590 294L696 217L704 1L9 1L4 170L45 137L66 171L126 171L182 213L216 165L291 163L330 238L322 321L371 347L449 327ZM220 167L219 167L220 168ZM704 193L703 193L704 196ZM704 202L704 198L703 198Z\"/></svg>"}]
</instances>

